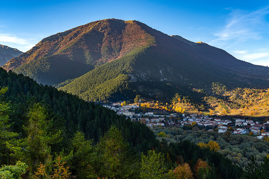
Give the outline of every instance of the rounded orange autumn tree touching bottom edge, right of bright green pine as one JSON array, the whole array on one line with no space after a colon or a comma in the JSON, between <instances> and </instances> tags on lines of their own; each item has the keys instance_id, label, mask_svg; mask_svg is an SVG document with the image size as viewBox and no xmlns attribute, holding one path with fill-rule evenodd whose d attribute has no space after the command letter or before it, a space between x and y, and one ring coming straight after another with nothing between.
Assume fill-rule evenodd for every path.
<instances>
[{"instance_id":1,"label":"rounded orange autumn tree touching bottom edge, right of bright green pine","mask_svg":"<svg viewBox=\"0 0 269 179\"><path fill-rule=\"evenodd\" d=\"M193 173L190 169L189 164L184 163L183 165L179 165L173 171L176 179L193 179Z\"/></svg>"}]
</instances>

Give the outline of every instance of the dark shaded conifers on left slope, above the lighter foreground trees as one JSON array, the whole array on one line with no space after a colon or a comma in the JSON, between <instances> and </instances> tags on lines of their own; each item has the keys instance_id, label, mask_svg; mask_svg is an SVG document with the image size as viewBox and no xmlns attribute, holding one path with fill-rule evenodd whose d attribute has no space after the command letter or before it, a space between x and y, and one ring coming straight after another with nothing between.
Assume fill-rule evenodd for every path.
<instances>
[{"instance_id":1,"label":"dark shaded conifers on left slope, above the lighter foreground trees","mask_svg":"<svg viewBox=\"0 0 269 179\"><path fill-rule=\"evenodd\" d=\"M141 137L137 137L140 135L136 134L139 128L145 128L142 125L131 123L125 117L120 117L109 109L85 102L51 86L38 85L29 77L17 75L13 72L6 73L3 69L1 69L0 77L1 86L8 87L8 91L5 93L6 100L14 103L10 108L15 112L11 114L10 118L14 121L12 128L16 129L15 132L20 133L23 130L23 125L28 120L27 109L33 107L34 103L40 103L41 106L47 108L50 115L55 116L55 120L64 120L63 124L69 133L68 135L72 136L76 130L83 131L85 138L93 139L94 144L105 131L114 125L124 131L123 136L133 135L133 137L129 137L132 147L138 144L137 148L144 148L140 145L148 144L142 141L147 138L154 138L150 130L145 130ZM53 119L53 117L50 119ZM129 130L130 126L134 128L131 127Z\"/></svg>"}]
</instances>

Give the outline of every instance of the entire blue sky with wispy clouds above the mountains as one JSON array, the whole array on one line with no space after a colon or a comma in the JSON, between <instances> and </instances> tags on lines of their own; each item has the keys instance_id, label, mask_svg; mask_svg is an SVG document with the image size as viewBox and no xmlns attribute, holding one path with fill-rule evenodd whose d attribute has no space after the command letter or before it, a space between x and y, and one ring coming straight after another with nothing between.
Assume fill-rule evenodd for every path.
<instances>
[{"instance_id":1,"label":"entire blue sky with wispy clouds above the mountains","mask_svg":"<svg viewBox=\"0 0 269 179\"><path fill-rule=\"evenodd\" d=\"M26 52L40 40L108 18L138 20L269 66L269 1L2 1L0 44Z\"/></svg>"}]
</instances>

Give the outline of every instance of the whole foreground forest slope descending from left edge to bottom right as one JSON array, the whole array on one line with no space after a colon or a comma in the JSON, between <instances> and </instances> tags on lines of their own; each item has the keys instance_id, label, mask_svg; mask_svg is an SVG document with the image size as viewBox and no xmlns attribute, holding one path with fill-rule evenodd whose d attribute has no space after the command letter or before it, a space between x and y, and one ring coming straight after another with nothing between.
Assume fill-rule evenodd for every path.
<instances>
[{"instance_id":1,"label":"whole foreground forest slope descending from left edge to bottom right","mask_svg":"<svg viewBox=\"0 0 269 179\"><path fill-rule=\"evenodd\" d=\"M266 157L243 170L219 152L157 140L144 124L22 74L0 69L0 78L2 178L224 179L268 171Z\"/></svg>"}]
</instances>

